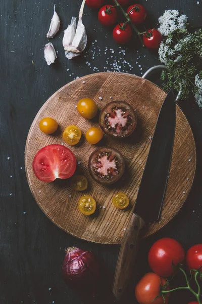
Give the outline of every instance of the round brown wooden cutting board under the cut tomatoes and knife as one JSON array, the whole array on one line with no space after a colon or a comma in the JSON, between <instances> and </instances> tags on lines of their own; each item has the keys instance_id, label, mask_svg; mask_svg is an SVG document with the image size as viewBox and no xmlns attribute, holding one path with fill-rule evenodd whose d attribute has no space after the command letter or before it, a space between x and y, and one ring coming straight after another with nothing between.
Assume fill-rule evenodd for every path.
<instances>
[{"instance_id":1,"label":"round brown wooden cutting board under the cut tomatoes and knife","mask_svg":"<svg viewBox=\"0 0 202 304\"><path fill-rule=\"evenodd\" d=\"M69 146L62 138L62 132L68 125L77 125L83 134L88 128L98 126L97 119L85 120L77 112L76 104L84 97L92 98L99 109L112 100L124 100L136 109L138 115L137 128L129 138L121 140L105 135L102 143L99 143L120 150L127 163L127 174L111 186L99 185L89 175L88 158L97 145L90 145L83 136L81 143ZM84 240L103 244L121 243L165 97L162 89L145 79L125 73L104 72L87 75L67 84L44 103L27 137L25 167L31 192L49 219L67 233ZM39 121L44 117L52 117L59 123L60 130L56 134L46 135L39 130ZM35 177L32 170L35 154L45 145L53 143L64 144L75 154L77 172L88 178L89 187L85 194L91 195L97 202L94 215L85 216L79 212L77 203L83 193L73 191L69 180L43 183ZM177 106L174 151L162 215L159 222L149 226L147 235L161 229L180 210L189 194L195 167L193 134ZM127 210L117 209L112 204L112 198L118 192L124 192L129 197L130 208Z\"/></svg>"}]
</instances>

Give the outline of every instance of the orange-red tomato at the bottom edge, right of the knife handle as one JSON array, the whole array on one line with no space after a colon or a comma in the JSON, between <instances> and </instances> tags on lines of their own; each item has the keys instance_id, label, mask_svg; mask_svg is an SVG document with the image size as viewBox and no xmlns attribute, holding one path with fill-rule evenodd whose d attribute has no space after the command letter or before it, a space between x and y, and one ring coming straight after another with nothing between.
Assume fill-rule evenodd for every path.
<instances>
[{"instance_id":1,"label":"orange-red tomato at the bottom edge, right of the knife handle","mask_svg":"<svg viewBox=\"0 0 202 304\"><path fill-rule=\"evenodd\" d=\"M145 274L135 287L135 296L139 304L164 304L164 298L160 295L155 301L154 299L160 294L160 286L164 286L166 280L160 278L154 273ZM170 286L167 285L166 290L169 290ZM165 304L168 303L169 294L165 294Z\"/></svg>"}]
</instances>

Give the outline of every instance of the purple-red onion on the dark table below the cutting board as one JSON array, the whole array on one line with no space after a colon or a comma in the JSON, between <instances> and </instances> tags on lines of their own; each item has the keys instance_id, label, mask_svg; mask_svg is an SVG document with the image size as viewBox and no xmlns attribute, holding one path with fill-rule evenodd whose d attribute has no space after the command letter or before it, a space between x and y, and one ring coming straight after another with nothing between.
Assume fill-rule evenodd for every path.
<instances>
[{"instance_id":1,"label":"purple-red onion on the dark table below the cutting board","mask_svg":"<svg viewBox=\"0 0 202 304\"><path fill-rule=\"evenodd\" d=\"M99 275L99 265L91 251L69 247L66 250L62 274L67 285L84 290L90 289L94 292Z\"/></svg>"}]
</instances>

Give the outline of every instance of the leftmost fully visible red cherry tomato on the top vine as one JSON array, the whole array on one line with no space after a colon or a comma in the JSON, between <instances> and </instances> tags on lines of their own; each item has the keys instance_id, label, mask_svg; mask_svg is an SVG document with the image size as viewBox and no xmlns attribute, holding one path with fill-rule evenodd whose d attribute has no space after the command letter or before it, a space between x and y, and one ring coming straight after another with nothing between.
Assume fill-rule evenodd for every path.
<instances>
[{"instance_id":1,"label":"leftmost fully visible red cherry tomato on the top vine","mask_svg":"<svg viewBox=\"0 0 202 304\"><path fill-rule=\"evenodd\" d=\"M98 20L105 26L111 26L117 21L117 10L112 5L104 5L98 12Z\"/></svg>"}]
</instances>

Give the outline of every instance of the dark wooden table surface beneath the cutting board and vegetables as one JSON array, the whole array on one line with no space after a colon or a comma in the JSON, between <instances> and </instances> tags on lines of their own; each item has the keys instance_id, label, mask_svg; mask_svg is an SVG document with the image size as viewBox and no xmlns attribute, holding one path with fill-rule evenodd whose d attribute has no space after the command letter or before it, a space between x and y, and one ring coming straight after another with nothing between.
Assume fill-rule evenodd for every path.
<instances>
[{"instance_id":1,"label":"dark wooden table surface beneath the cutting board and vegetables","mask_svg":"<svg viewBox=\"0 0 202 304\"><path fill-rule=\"evenodd\" d=\"M156 27L165 9L179 9L192 25L202 23L202 2L196 0L156 0L140 2L148 11L147 28ZM108 294L119 253L119 246L90 244L64 233L38 208L25 175L24 149L30 125L46 99L76 77L97 71L117 71L141 75L158 64L158 54L133 43L119 47L112 39L112 30L97 21L96 11L85 8L83 22L88 45L81 57L68 61L64 56L62 37L72 16L77 16L81 0L56 0L63 21L60 33L52 41L58 51L56 64L47 66L43 48L53 15L52 1L2 0L0 7L1 52L1 160L0 160L0 303L81 304L91 300L68 288L61 276L65 248L77 246L92 250L100 259L104 272L102 297L95 303L113 303ZM107 48L107 50L106 50ZM105 54L106 52L106 54ZM108 59L109 58L109 59ZM138 62L138 63L136 63ZM149 271L147 253L161 237L179 240L185 249L201 243L201 174L202 112L194 100L180 101L196 141L197 172L187 202L177 216L158 234L143 240L137 267L137 279ZM182 138L183 140L183 138ZM178 280L179 281L179 280ZM179 282L178 282L179 283ZM182 282L184 283L184 282ZM132 285L132 284L131 284ZM187 303L189 293L172 295L172 303ZM136 303L134 284L124 303Z\"/></svg>"}]
</instances>

